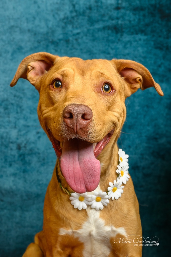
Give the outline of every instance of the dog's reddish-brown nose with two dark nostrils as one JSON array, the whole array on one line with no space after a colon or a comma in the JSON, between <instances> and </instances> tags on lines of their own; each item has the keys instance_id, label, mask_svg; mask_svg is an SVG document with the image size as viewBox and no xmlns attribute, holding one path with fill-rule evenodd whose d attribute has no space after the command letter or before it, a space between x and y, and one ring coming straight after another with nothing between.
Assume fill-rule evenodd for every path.
<instances>
[{"instance_id":1,"label":"dog's reddish-brown nose with two dark nostrils","mask_svg":"<svg viewBox=\"0 0 171 257\"><path fill-rule=\"evenodd\" d=\"M82 104L71 104L63 110L63 120L74 133L79 133L81 128L86 128L92 120L92 110Z\"/></svg>"}]
</instances>

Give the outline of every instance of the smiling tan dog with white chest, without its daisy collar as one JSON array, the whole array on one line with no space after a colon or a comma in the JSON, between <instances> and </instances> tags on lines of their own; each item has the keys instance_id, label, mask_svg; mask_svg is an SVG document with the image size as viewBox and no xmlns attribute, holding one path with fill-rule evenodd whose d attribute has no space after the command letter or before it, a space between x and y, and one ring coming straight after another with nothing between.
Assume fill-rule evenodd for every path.
<instances>
[{"instance_id":1,"label":"smiling tan dog with white chest, without its daisy collar","mask_svg":"<svg viewBox=\"0 0 171 257\"><path fill-rule=\"evenodd\" d=\"M140 246L124 242L141 235L131 178L121 198L110 199L102 210L75 209L64 188L80 194L107 190L117 178L117 139L126 118L126 97L149 87L163 96L160 86L135 61L83 61L44 52L21 62L11 86L19 78L39 91L39 121L58 156L45 196L43 231L23 256L141 256Z\"/></svg>"}]
</instances>

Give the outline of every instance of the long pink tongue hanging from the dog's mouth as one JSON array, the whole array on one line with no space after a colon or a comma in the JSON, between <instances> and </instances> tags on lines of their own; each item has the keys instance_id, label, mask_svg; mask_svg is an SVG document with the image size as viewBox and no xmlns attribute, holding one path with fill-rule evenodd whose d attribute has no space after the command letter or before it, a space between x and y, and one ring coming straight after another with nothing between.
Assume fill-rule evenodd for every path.
<instances>
[{"instance_id":1,"label":"long pink tongue hanging from the dog's mouth","mask_svg":"<svg viewBox=\"0 0 171 257\"><path fill-rule=\"evenodd\" d=\"M78 139L63 142L61 170L75 192L82 194L96 189L100 181L100 161L94 157L93 144Z\"/></svg>"}]
</instances>

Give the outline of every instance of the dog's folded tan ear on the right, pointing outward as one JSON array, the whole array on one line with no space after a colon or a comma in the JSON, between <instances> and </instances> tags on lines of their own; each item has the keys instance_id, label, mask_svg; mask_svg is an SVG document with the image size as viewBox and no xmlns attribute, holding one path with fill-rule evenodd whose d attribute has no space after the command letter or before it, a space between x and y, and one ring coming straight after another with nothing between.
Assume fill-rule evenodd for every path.
<instances>
[{"instance_id":1,"label":"dog's folded tan ear on the right, pointing outward","mask_svg":"<svg viewBox=\"0 0 171 257\"><path fill-rule=\"evenodd\" d=\"M111 60L120 76L125 80L125 97L135 93L138 88L142 90L155 87L157 93L163 96L163 92L159 84L157 84L142 64L130 60Z\"/></svg>"}]
</instances>

